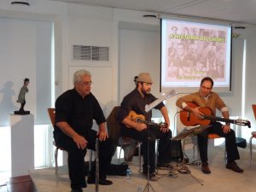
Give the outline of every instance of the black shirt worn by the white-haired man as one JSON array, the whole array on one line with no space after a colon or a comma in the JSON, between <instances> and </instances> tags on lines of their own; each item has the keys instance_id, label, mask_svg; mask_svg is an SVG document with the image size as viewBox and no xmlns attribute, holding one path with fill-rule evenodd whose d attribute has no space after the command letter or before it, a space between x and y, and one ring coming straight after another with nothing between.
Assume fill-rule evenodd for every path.
<instances>
[{"instance_id":1,"label":"black shirt worn by the white-haired man","mask_svg":"<svg viewBox=\"0 0 256 192\"><path fill-rule=\"evenodd\" d=\"M73 89L67 90L57 98L55 123L65 121L79 135L86 136L93 125L93 119L98 125L106 122L99 102L91 93L83 98ZM62 133L62 131L55 125L55 134L58 133Z\"/></svg>"}]
</instances>

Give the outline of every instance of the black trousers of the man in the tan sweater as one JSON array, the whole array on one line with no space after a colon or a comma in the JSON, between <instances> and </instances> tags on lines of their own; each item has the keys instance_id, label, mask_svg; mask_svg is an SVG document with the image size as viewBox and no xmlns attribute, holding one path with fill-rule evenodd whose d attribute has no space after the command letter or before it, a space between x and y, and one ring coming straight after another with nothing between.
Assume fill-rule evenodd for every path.
<instances>
[{"instance_id":1,"label":"black trousers of the man in the tan sweater","mask_svg":"<svg viewBox=\"0 0 256 192\"><path fill-rule=\"evenodd\" d=\"M200 153L202 162L206 162L208 160L207 148L208 148L209 133L215 133L219 137L225 138L225 146L226 146L228 161L240 159L238 149L236 147L235 131L230 130L230 132L225 134L222 129L222 124L219 122L213 122L209 128L207 128L205 131L201 132L201 134L197 136L198 148L199 148L199 153Z\"/></svg>"}]
</instances>

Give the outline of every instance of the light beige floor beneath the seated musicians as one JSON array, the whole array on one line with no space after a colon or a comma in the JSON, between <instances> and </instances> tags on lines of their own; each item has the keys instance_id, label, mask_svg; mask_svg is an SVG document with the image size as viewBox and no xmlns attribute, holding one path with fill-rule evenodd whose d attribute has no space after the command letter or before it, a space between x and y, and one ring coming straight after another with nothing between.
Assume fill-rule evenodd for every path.
<instances>
[{"instance_id":1,"label":"light beige floor beneath the seated musicians","mask_svg":"<svg viewBox=\"0 0 256 192\"><path fill-rule=\"evenodd\" d=\"M175 191L175 192L254 192L256 183L256 153L253 156L255 162L253 166L248 167L248 150L239 148L241 160L237 163L245 170L244 173L236 173L226 169L224 166L224 147L215 147L209 149L209 164L212 174L205 175L201 172L199 166L189 166L190 174L178 173L177 178L167 177L167 171L160 171L158 182L149 182L154 191ZM191 157L192 152L188 155ZM173 166L177 164L174 162ZM147 179L137 172L137 164L131 165L133 172L131 179L126 177L109 176L113 185L100 186L99 191L104 192L135 192L143 191L147 185ZM35 170L31 172L32 180L36 185L38 192L70 192L67 167L61 167L60 175L55 177L55 169L48 168ZM147 185L148 186L148 185ZM153 191L146 189L145 191ZM84 192L95 191L95 185L88 185Z\"/></svg>"}]
</instances>

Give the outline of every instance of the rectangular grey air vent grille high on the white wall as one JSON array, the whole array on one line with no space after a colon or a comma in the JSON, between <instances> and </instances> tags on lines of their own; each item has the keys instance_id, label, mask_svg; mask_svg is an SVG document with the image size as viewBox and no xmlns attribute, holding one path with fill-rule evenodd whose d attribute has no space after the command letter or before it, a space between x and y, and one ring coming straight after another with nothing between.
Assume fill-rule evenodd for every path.
<instances>
[{"instance_id":1,"label":"rectangular grey air vent grille high on the white wall","mask_svg":"<svg viewBox=\"0 0 256 192\"><path fill-rule=\"evenodd\" d=\"M73 45L73 60L109 61L109 48Z\"/></svg>"}]
</instances>

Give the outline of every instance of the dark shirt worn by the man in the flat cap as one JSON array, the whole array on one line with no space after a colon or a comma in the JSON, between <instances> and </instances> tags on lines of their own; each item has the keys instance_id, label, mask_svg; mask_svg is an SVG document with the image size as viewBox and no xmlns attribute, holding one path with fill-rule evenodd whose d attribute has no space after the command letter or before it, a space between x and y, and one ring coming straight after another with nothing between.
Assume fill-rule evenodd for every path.
<instances>
[{"instance_id":1,"label":"dark shirt worn by the man in the flat cap","mask_svg":"<svg viewBox=\"0 0 256 192\"><path fill-rule=\"evenodd\" d=\"M140 95L137 88L132 90L127 96L124 97L123 102L121 102L121 108L119 109L119 113L117 114L117 119L121 122L125 117L128 116L130 111L134 111L137 114L143 114L146 120L151 121L152 111L150 110L148 113L145 112L145 106L154 102L156 97L152 94L147 94L144 97ZM164 107L164 103L160 102L155 109L159 109Z\"/></svg>"}]
</instances>

